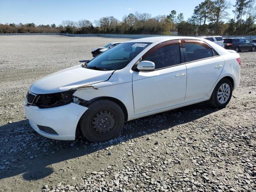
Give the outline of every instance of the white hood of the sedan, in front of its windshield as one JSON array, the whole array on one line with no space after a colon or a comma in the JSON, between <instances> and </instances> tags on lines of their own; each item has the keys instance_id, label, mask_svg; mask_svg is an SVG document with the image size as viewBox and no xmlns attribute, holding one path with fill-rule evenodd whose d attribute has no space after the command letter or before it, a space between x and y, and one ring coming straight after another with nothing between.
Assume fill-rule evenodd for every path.
<instances>
[{"instance_id":1,"label":"white hood of the sedan, in front of its windshield","mask_svg":"<svg viewBox=\"0 0 256 192\"><path fill-rule=\"evenodd\" d=\"M36 81L30 87L35 94L48 94L67 91L80 86L108 80L111 71L100 71L83 68L80 65L61 70Z\"/></svg>"}]
</instances>

